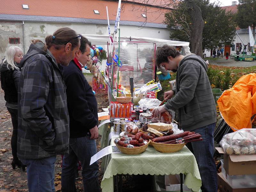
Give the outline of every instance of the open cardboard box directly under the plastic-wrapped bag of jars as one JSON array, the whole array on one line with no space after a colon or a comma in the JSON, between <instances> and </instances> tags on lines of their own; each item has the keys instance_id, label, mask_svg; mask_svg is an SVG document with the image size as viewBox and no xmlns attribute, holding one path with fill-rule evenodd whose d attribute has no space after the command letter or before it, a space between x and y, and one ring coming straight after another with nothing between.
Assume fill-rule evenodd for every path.
<instances>
[{"instance_id":1,"label":"open cardboard box directly under the plastic-wrapped bag of jars","mask_svg":"<svg viewBox=\"0 0 256 192\"><path fill-rule=\"evenodd\" d=\"M256 174L256 154L227 155L222 148L216 147L216 150L224 154L224 169L228 175Z\"/></svg>"}]
</instances>

